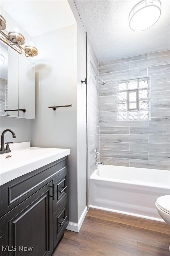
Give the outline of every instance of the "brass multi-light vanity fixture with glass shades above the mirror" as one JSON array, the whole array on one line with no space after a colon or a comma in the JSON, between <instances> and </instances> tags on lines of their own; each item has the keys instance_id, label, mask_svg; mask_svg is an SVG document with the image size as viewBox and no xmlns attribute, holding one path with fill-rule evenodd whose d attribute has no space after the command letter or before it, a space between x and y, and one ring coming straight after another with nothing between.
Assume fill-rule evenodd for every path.
<instances>
[{"instance_id":1,"label":"brass multi-light vanity fixture with glass shades above the mirror","mask_svg":"<svg viewBox=\"0 0 170 256\"><path fill-rule=\"evenodd\" d=\"M12 47L15 51L17 51L20 54L22 54L22 51L24 51L26 57L34 57L38 55L38 49L35 46L27 45L24 48L21 46L25 44L25 38L21 33L17 31L17 28L16 31L9 32L8 34L2 31L5 29L6 20L2 15L0 15L0 40L9 45L10 47Z\"/></svg>"}]
</instances>

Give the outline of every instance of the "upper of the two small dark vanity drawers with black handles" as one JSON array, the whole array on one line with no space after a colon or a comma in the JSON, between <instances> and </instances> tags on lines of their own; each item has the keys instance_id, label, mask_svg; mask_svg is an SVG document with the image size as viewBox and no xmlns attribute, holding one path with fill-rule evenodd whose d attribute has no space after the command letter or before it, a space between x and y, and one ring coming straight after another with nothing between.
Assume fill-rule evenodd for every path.
<instances>
[{"instance_id":1,"label":"upper of the two small dark vanity drawers with black handles","mask_svg":"<svg viewBox=\"0 0 170 256\"><path fill-rule=\"evenodd\" d=\"M61 171L60 174L53 179L53 186L53 212L56 212L56 210L68 197L68 169Z\"/></svg>"}]
</instances>

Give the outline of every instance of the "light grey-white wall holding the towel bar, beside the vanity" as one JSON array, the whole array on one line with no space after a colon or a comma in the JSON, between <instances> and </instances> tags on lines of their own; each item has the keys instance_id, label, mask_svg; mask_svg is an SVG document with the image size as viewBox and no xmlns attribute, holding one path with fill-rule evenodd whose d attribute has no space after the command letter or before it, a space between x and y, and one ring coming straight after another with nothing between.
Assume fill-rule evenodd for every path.
<instances>
[{"instance_id":1,"label":"light grey-white wall holding the towel bar, beside the vanity","mask_svg":"<svg viewBox=\"0 0 170 256\"><path fill-rule=\"evenodd\" d=\"M50 38L50 40L49 40ZM32 146L70 148L69 219L77 223L76 25L35 37L36 117ZM68 105L56 111L49 106Z\"/></svg>"}]
</instances>

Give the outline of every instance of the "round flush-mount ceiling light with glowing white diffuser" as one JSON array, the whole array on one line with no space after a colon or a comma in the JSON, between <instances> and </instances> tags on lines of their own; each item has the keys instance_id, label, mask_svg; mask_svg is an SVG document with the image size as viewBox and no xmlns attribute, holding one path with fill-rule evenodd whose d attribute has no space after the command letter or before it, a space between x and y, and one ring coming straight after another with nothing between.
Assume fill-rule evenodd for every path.
<instances>
[{"instance_id":1,"label":"round flush-mount ceiling light with glowing white diffuser","mask_svg":"<svg viewBox=\"0 0 170 256\"><path fill-rule=\"evenodd\" d=\"M159 0L142 0L129 14L129 26L134 31L143 31L152 27L161 15Z\"/></svg>"}]
</instances>

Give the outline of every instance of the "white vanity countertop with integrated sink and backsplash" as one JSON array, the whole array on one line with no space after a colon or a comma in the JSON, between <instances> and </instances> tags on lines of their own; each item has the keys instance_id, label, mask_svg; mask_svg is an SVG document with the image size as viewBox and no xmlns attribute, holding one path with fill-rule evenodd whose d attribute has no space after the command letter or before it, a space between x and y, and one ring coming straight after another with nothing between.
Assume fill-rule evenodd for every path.
<instances>
[{"instance_id":1,"label":"white vanity countertop with integrated sink and backsplash","mask_svg":"<svg viewBox=\"0 0 170 256\"><path fill-rule=\"evenodd\" d=\"M30 142L9 146L11 152L0 155L0 185L70 154L69 149L30 147Z\"/></svg>"}]
</instances>

